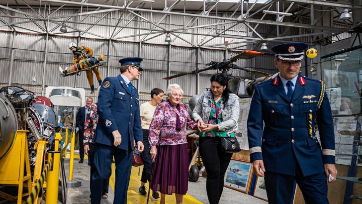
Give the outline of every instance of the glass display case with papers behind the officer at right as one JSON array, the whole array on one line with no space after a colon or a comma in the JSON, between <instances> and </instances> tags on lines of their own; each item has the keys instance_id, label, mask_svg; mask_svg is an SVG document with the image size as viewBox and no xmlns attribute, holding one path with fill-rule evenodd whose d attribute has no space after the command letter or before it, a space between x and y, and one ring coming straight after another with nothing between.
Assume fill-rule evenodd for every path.
<instances>
[{"instance_id":1,"label":"glass display case with papers behind the officer at right","mask_svg":"<svg viewBox=\"0 0 362 204\"><path fill-rule=\"evenodd\" d=\"M322 56L321 75L333 114L336 163L361 166L362 45Z\"/></svg>"}]
</instances>

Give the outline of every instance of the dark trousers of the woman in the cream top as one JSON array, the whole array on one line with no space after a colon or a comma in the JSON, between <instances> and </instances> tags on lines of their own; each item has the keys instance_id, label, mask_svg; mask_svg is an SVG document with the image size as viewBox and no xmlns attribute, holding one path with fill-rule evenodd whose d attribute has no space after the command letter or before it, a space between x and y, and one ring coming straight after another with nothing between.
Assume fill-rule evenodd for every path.
<instances>
[{"instance_id":1,"label":"dark trousers of the woman in the cream top","mask_svg":"<svg viewBox=\"0 0 362 204\"><path fill-rule=\"evenodd\" d=\"M150 152L150 142L148 141L148 129L142 129L143 133L143 145L145 146L145 149L141 153L141 158L143 161L143 170L142 170L142 177L141 182L147 183L151 181L151 168L152 168L152 159Z\"/></svg>"}]
</instances>

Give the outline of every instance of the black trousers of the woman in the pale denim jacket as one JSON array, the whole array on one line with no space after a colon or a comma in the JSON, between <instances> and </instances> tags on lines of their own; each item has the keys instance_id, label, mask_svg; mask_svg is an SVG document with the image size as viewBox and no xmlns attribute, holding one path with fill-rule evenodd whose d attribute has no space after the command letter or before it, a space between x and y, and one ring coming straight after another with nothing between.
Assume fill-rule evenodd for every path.
<instances>
[{"instance_id":1,"label":"black trousers of the woman in the pale denim jacket","mask_svg":"<svg viewBox=\"0 0 362 204\"><path fill-rule=\"evenodd\" d=\"M221 151L220 137L200 137L198 142L207 172L207 198L210 204L218 204L224 189L225 172L233 154Z\"/></svg>"}]
</instances>

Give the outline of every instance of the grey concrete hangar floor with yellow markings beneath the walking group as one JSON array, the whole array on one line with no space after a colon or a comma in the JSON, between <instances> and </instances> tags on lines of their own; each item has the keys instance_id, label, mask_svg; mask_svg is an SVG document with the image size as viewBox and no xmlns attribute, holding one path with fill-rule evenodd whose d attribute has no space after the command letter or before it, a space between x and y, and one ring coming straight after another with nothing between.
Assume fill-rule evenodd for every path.
<instances>
[{"instance_id":1,"label":"grey concrete hangar floor with yellow markings beneath the walking group","mask_svg":"<svg viewBox=\"0 0 362 204\"><path fill-rule=\"evenodd\" d=\"M79 157L76 155L76 157ZM89 180L90 180L90 166L88 166L88 160L85 159L83 164L78 163L79 159L74 160L74 171L73 171L73 180L82 181L81 187L68 188L67 195L67 204L87 204L90 203L90 190L89 190ZM69 178L69 162L64 164L67 179ZM112 167L114 172L114 165ZM142 167L140 168L142 172ZM113 178L112 178L113 176ZM111 204L113 203L114 192L112 186L114 187L114 175L111 176L108 199L101 201L102 204ZM140 176L138 176L138 168L132 168L132 175L130 180L130 185L128 189L128 204L145 204L147 201L146 196L141 196L138 194ZM146 185L148 187L148 184ZM188 191L184 197L184 204L195 204L195 203L204 203L208 204L207 195L206 195L206 178L200 177L197 182L188 182ZM152 197L152 196L151 196ZM150 198L151 198L150 197ZM59 196L61 198L61 196ZM159 200L151 199L151 204L158 204ZM45 203L43 201L43 203ZM60 201L58 202L59 204ZM174 196L166 196L166 203L176 203ZM267 204L267 202L260 199L254 198L250 195L243 194L232 189L224 188L223 195L220 200L220 204Z\"/></svg>"}]
</instances>

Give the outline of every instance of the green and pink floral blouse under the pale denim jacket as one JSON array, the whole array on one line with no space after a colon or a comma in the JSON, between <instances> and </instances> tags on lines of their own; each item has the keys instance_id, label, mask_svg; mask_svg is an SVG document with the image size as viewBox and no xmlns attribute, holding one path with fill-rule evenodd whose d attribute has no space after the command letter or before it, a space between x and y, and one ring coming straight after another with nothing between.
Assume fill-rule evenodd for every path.
<instances>
[{"instance_id":1,"label":"green and pink floral blouse under the pale denim jacket","mask_svg":"<svg viewBox=\"0 0 362 204\"><path fill-rule=\"evenodd\" d=\"M222 114L221 114L221 103L224 102L224 99L221 98L218 102L214 101L214 98L211 98L211 111L210 111L210 119L208 124L219 124L222 122ZM200 132L197 131L200 135ZM234 137L235 134L231 133L230 137ZM226 131L219 131L212 129L208 132L202 132L201 137L228 137Z\"/></svg>"}]
</instances>

